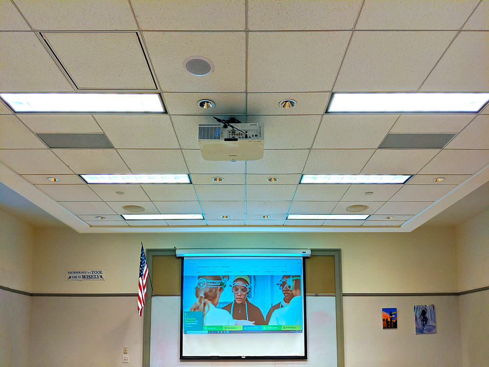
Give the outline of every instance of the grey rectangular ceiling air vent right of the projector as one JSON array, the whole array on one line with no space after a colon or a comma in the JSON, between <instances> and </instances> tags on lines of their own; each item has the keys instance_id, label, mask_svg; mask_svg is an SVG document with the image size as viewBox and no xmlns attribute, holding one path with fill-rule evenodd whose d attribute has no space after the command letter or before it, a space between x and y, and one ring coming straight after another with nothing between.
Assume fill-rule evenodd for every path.
<instances>
[{"instance_id":1,"label":"grey rectangular ceiling air vent right of the projector","mask_svg":"<svg viewBox=\"0 0 489 367\"><path fill-rule=\"evenodd\" d=\"M387 134L380 149L442 149L456 134Z\"/></svg>"}]
</instances>

